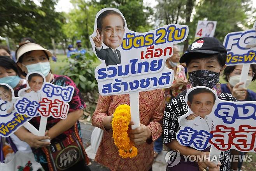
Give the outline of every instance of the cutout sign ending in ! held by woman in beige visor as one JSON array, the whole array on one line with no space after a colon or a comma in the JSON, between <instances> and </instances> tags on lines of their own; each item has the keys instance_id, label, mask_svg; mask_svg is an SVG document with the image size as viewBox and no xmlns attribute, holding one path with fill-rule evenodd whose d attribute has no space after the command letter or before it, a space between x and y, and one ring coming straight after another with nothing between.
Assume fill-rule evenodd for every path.
<instances>
[{"instance_id":1,"label":"cutout sign ending in ! held by woman in beige visor","mask_svg":"<svg viewBox=\"0 0 256 171\"><path fill-rule=\"evenodd\" d=\"M61 87L45 81L40 72L30 72L26 76L27 87L19 90L15 103L16 111L30 117L41 116L39 135L46 132L47 118L66 119L74 87Z\"/></svg>"}]
</instances>

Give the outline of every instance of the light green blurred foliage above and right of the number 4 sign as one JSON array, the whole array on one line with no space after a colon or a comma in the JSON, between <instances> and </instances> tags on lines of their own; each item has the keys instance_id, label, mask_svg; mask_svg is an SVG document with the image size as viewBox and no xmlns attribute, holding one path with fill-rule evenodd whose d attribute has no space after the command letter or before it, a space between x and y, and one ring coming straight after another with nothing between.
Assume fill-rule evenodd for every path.
<instances>
[{"instance_id":1,"label":"light green blurred foliage above and right of the number 4 sign","mask_svg":"<svg viewBox=\"0 0 256 171\"><path fill-rule=\"evenodd\" d=\"M195 21L217 21L214 36L223 42L229 32L245 30L242 26L250 17L246 12L252 10L251 5L251 0L202 0L196 7ZM192 33L195 35L194 30Z\"/></svg>"}]
</instances>

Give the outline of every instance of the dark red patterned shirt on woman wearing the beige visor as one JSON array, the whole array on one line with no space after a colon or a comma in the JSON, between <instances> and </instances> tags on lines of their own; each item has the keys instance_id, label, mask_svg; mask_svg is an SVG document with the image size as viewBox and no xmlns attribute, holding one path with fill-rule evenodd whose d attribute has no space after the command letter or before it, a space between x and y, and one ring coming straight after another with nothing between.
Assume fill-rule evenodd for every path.
<instances>
[{"instance_id":1,"label":"dark red patterned shirt on woman wearing the beige visor","mask_svg":"<svg viewBox=\"0 0 256 171\"><path fill-rule=\"evenodd\" d=\"M82 100L81 93L75 83L67 76L63 75L55 75L54 74L54 82L53 84L58 86L73 86L75 87L74 94L72 97L72 100L68 103L69 104L69 110L68 113L72 111L76 111L79 109L84 109L86 107L84 101ZM19 89L25 88L26 84L23 86L20 86ZM15 94L17 94L18 89L16 90ZM40 124L40 116L32 118L29 122L37 129L39 129ZM47 120L47 126L46 130L49 130L51 127L53 127L56 123L58 123L61 119L56 119L53 117L49 117ZM77 121L78 122L78 121ZM79 130L80 131L80 130ZM61 133L57 137L51 140L51 143L56 143L64 140L68 135L70 135L72 132L74 132L74 126L66 130L65 132ZM35 149L32 148L32 151L35 155L35 159L37 162L40 163L47 163L46 156L41 148Z\"/></svg>"}]
</instances>

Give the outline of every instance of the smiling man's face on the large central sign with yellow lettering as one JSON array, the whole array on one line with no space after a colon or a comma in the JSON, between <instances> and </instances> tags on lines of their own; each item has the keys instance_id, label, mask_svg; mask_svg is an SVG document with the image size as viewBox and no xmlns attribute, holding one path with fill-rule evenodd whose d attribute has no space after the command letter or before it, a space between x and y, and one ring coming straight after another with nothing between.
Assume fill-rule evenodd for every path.
<instances>
[{"instance_id":1,"label":"smiling man's face on the large central sign with yellow lettering","mask_svg":"<svg viewBox=\"0 0 256 171\"><path fill-rule=\"evenodd\" d=\"M123 42L124 23L119 15L111 14L102 20L103 43L109 48L116 49Z\"/></svg>"}]
</instances>

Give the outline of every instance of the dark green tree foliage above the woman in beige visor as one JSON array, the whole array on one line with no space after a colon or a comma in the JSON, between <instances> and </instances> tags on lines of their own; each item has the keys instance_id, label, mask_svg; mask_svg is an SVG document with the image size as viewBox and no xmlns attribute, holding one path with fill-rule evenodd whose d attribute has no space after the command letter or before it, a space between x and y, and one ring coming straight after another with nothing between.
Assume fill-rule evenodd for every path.
<instances>
[{"instance_id":1,"label":"dark green tree foliage above the woman in beige visor","mask_svg":"<svg viewBox=\"0 0 256 171\"><path fill-rule=\"evenodd\" d=\"M40 6L32 0L0 0L0 36L19 43L31 37L39 44L51 48L51 38L63 36L61 25L65 18L55 11L56 0L42 0Z\"/></svg>"}]
</instances>

